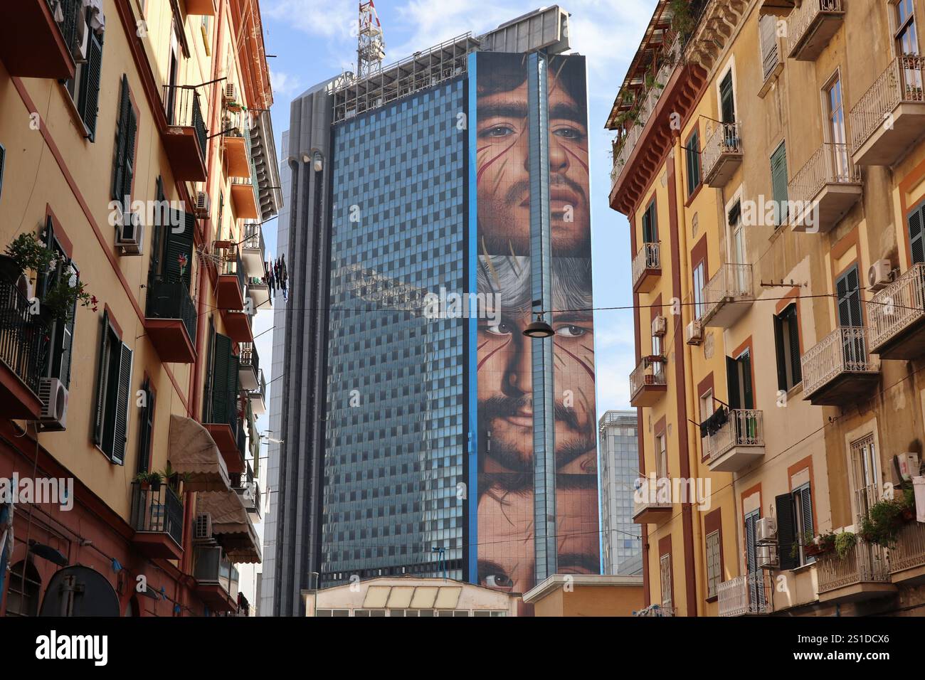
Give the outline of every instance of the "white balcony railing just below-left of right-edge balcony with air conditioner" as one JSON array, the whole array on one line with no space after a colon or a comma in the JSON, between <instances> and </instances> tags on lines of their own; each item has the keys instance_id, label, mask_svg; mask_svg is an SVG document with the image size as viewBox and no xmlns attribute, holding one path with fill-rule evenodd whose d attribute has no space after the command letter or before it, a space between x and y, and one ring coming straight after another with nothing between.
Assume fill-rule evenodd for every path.
<instances>
[{"instance_id":1,"label":"white balcony railing just below-left of right-edge balcony with air conditioner","mask_svg":"<svg viewBox=\"0 0 925 680\"><path fill-rule=\"evenodd\" d=\"M842 373L877 373L880 358L870 352L869 328L842 326L803 355L803 391L809 395Z\"/></svg>"}]
</instances>

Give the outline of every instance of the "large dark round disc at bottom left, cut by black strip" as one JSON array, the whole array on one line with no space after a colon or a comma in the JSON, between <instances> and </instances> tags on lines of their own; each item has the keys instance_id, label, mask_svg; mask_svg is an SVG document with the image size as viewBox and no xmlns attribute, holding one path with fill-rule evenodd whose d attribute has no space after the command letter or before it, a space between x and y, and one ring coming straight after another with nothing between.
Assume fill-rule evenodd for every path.
<instances>
[{"instance_id":1,"label":"large dark round disc at bottom left, cut by black strip","mask_svg":"<svg viewBox=\"0 0 925 680\"><path fill-rule=\"evenodd\" d=\"M118 596L106 577L90 567L58 570L45 589L39 616L118 616Z\"/></svg>"}]
</instances>

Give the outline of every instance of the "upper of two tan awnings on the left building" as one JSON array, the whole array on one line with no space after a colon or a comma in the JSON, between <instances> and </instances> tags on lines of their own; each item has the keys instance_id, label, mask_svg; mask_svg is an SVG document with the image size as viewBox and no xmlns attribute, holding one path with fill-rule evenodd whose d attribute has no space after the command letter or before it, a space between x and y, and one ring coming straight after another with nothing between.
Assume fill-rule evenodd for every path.
<instances>
[{"instance_id":1,"label":"upper of two tan awnings on the left building","mask_svg":"<svg viewBox=\"0 0 925 680\"><path fill-rule=\"evenodd\" d=\"M179 473L189 474L188 491L228 491L228 466L212 435L192 418L170 415L167 458Z\"/></svg>"}]
</instances>

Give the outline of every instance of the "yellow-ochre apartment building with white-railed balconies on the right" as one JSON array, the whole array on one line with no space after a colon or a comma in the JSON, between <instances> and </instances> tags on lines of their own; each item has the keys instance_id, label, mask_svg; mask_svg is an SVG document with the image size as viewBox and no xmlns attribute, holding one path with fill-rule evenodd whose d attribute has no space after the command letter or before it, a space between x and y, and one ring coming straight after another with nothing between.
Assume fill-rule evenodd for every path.
<instances>
[{"instance_id":1,"label":"yellow-ochre apartment building with white-railed balconies on the right","mask_svg":"<svg viewBox=\"0 0 925 680\"><path fill-rule=\"evenodd\" d=\"M655 8L608 120L639 464L673 483L635 509L647 604L921 612L923 18L920 0Z\"/></svg>"}]
</instances>

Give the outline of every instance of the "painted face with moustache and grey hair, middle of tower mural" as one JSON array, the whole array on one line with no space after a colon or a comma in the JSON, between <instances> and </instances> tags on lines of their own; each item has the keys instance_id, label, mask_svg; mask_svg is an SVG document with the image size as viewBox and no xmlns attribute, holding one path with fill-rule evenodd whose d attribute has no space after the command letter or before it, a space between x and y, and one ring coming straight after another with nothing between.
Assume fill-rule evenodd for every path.
<instances>
[{"instance_id":1,"label":"painted face with moustache and grey hair, middle of tower mural","mask_svg":"<svg viewBox=\"0 0 925 680\"><path fill-rule=\"evenodd\" d=\"M533 340L524 336L526 312L505 314L478 327L478 409L485 472L533 470ZM591 315L555 315L553 384L559 472L595 473L594 331Z\"/></svg>"}]
</instances>

